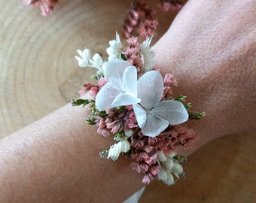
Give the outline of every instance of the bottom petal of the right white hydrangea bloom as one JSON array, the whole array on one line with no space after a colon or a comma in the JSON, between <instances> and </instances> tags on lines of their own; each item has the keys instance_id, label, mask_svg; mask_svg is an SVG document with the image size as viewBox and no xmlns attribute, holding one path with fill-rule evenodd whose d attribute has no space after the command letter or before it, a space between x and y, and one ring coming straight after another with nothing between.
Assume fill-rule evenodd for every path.
<instances>
[{"instance_id":1,"label":"bottom petal of the right white hydrangea bloom","mask_svg":"<svg viewBox=\"0 0 256 203\"><path fill-rule=\"evenodd\" d=\"M137 116L136 116L137 117ZM167 120L155 117L153 114L147 114L145 125L141 128L142 133L151 138L156 137L169 126Z\"/></svg>"}]
</instances>

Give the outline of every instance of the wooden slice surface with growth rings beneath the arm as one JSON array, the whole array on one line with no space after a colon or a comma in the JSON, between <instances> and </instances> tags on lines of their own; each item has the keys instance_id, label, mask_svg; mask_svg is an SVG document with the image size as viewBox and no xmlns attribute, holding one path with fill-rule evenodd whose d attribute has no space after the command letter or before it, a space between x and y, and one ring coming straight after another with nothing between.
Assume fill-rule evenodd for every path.
<instances>
[{"instance_id":1,"label":"wooden slice surface with growth rings beneath the arm","mask_svg":"<svg viewBox=\"0 0 256 203\"><path fill-rule=\"evenodd\" d=\"M92 71L78 68L76 50L88 47L106 56L130 1L60 2L46 18L22 0L0 2L0 137L78 96ZM168 26L160 22L158 37ZM153 183L140 202L254 202L254 136L230 135L207 144L189 157L187 180L170 187Z\"/></svg>"}]
</instances>

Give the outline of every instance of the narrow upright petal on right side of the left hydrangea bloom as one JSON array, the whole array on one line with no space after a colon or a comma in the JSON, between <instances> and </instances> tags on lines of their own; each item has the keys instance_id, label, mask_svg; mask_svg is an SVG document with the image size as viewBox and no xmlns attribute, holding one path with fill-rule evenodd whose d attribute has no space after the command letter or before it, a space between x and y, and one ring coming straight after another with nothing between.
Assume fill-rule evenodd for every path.
<instances>
[{"instance_id":1,"label":"narrow upright petal on right side of the left hydrangea bloom","mask_svg":"<svg viewBox=\"0 0 256 203\"><path fill-rule=\"evenodd\" d=\"M134 66L129 66L124 70L123 88L126 94L137 97L137 69Z\"/></svg>"}]
</instances>

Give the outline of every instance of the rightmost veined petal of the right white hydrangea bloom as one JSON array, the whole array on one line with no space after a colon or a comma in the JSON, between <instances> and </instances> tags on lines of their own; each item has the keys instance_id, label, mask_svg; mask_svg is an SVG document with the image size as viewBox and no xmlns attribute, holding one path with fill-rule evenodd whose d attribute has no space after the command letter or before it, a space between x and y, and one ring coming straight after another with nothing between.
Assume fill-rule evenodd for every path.
<instances>
[{"instance_id":1,"label":"rightmost veined petal of the right white hydrangea bloom","mask_svg":"<svg viewBox=\"0 0 256 203\"><path fill-rule=\"evenodd\" d=\"M187 109L181 102L162 101L158 103L151 113L157 117L167 120L171 125L184 123L188 119Z\"/></svg>"}]
</instances>

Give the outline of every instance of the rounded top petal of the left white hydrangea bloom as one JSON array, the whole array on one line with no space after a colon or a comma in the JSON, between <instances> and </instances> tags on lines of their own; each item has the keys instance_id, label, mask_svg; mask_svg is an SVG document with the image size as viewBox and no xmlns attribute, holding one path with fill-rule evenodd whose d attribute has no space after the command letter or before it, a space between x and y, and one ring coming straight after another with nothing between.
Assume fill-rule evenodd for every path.
<instances>
[{"instance_id":1,"label":"rounded top petal of the left white hydrangea bloom","mask_svg":"<svg viewBox=\"0 0 256 203\"><path fill-rule=\"evenodd\" d=\"M113 80L123 81L123 72L124 70L131 66L130 62L123 61L121 59L112 59L105 64L105 78L108 82L112 82ZM114 82L113 81L113 82Z\"/></svg>"}]
</instances>

